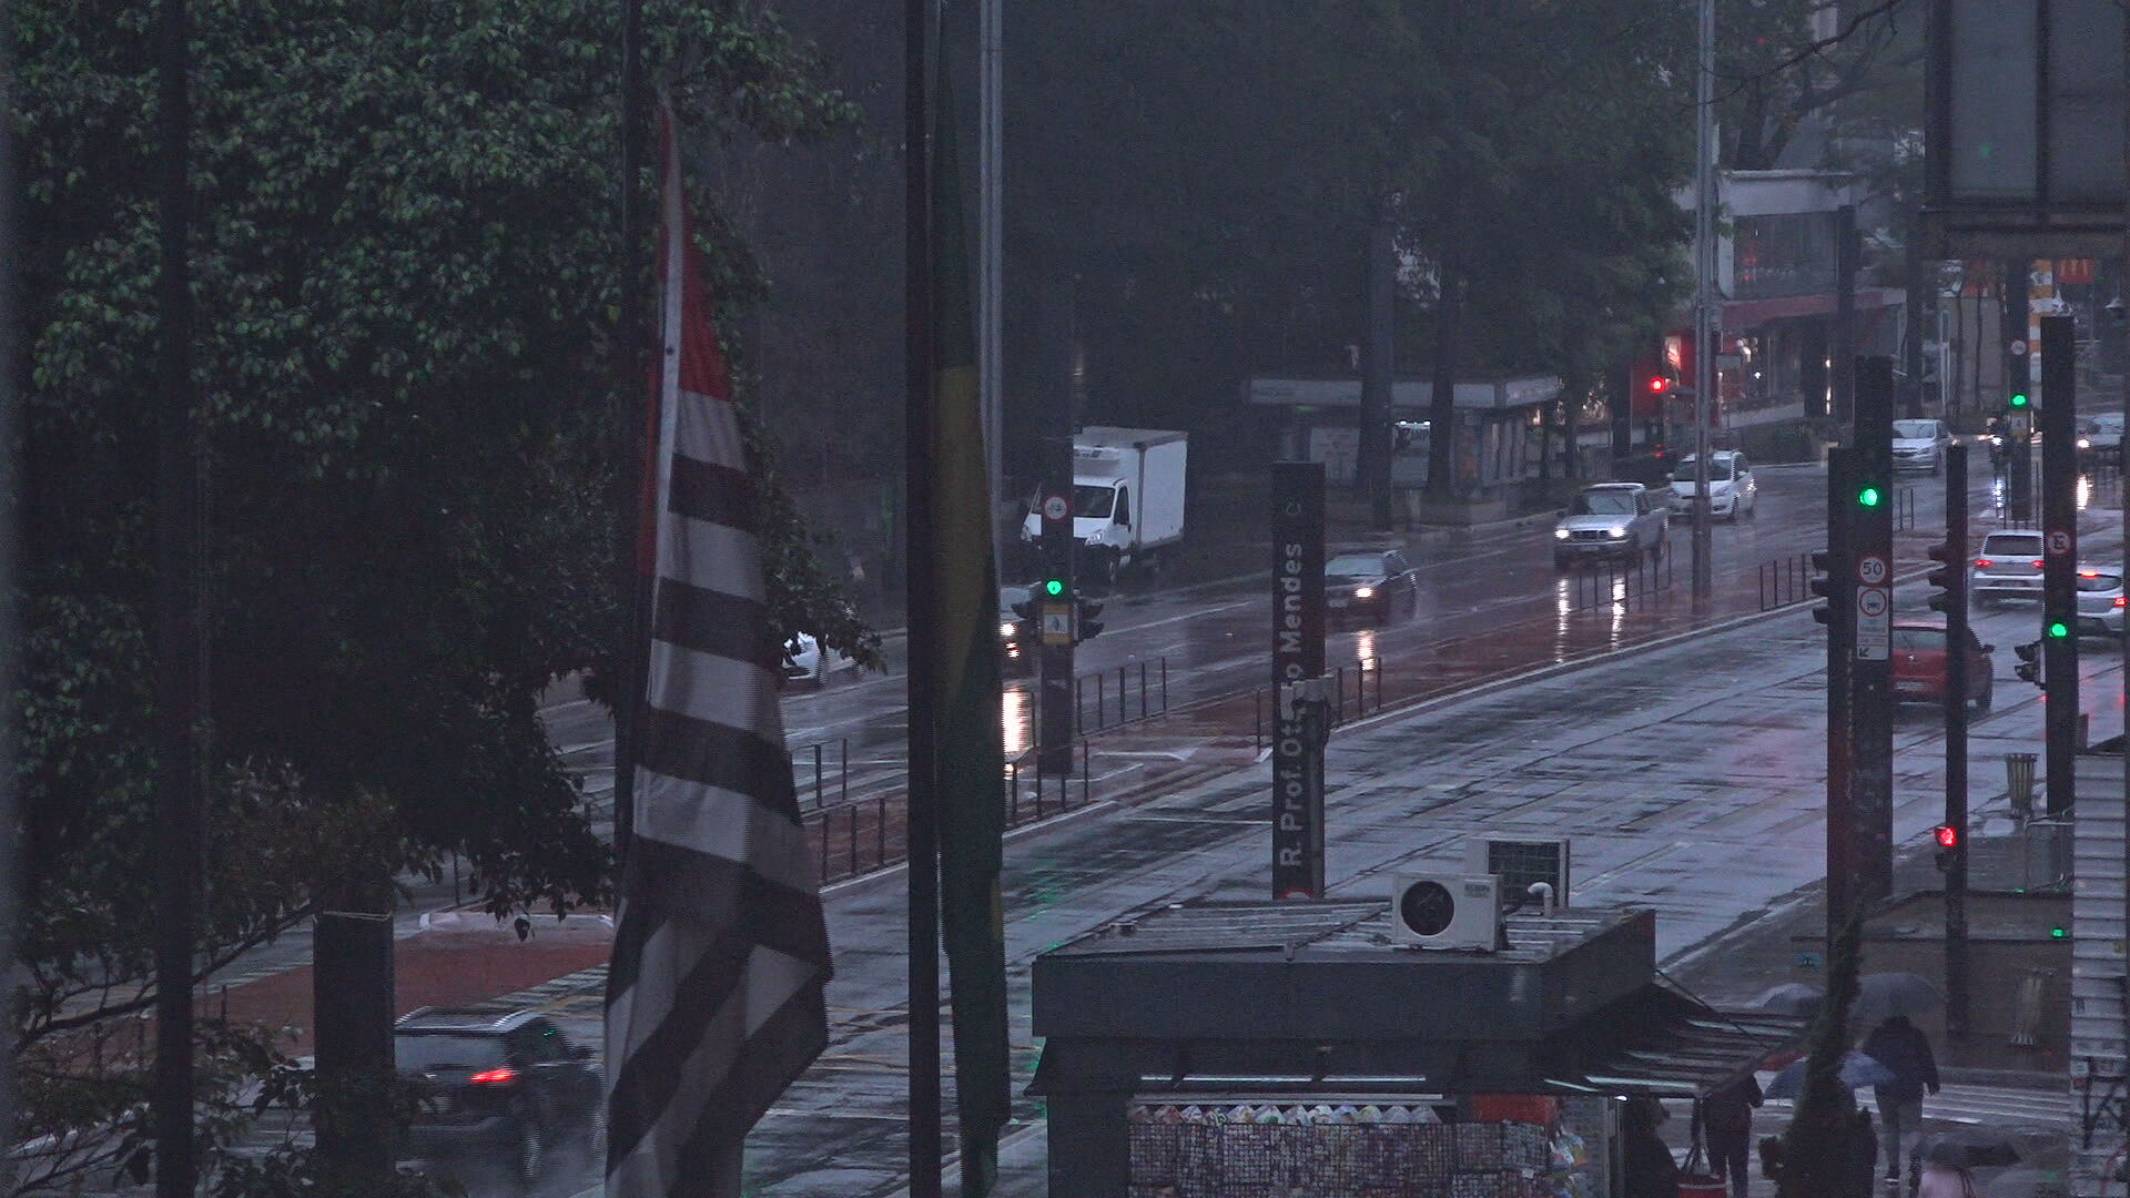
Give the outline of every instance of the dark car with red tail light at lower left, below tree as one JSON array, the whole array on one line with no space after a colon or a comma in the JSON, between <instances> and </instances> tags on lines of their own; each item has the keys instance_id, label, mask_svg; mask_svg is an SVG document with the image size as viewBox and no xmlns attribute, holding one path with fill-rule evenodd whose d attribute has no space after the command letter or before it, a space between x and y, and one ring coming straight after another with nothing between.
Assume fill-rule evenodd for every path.
<instances>
[{"instance_id":1,"label":"dark car with red tail light at lower left, below tree","mask_svg":"<svg viewBox=\"0 0 2130 1198\"><path fill-rule=\"evenodd\" d=\"M592 1049L535 1010L424 1006L392 1025L392 1055L422 1100L400 1160L503 1166L532 1189L558 1147L599 1155Z\"/></svg>"}]
</instances>

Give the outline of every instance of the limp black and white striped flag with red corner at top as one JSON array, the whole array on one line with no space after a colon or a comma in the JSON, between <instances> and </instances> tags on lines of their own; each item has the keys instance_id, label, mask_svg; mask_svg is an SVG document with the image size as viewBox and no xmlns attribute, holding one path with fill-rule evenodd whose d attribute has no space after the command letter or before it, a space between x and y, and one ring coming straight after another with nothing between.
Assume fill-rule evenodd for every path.
<instances>
[{"instance_id":1,"label":"limp black and white striped flag with red corner at top","mask_svg":"<svg viewBox=\"0 0 2130 1198\"><path fill-rule=\"evenodd\" d=\"M782 631L660 107L662 373L635 838L607 972L607 1194L731 1198L748 1128L829 1038L829 934L777 710Z\"/></svg>"}]
</instances>

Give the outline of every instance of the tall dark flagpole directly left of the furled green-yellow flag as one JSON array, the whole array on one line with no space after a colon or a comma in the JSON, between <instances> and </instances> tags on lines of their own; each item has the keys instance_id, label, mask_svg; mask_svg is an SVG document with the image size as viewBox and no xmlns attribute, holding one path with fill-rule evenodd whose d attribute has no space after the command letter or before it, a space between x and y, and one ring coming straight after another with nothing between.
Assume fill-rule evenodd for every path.
<instances>
[{"instance_id":1,"label":"tall dark flagpole directly left of the furled green-yellow flag","mask_svg":"<svg viewBox=\"0 0 2130 1198\"><path fill-rule=\"evenodd\" d=\"M910 1198L939 1198L939 791L933 537L933 237L927 45L935 0L903 0L903 595L910 629Z\"/></svg>"}]
</instances>

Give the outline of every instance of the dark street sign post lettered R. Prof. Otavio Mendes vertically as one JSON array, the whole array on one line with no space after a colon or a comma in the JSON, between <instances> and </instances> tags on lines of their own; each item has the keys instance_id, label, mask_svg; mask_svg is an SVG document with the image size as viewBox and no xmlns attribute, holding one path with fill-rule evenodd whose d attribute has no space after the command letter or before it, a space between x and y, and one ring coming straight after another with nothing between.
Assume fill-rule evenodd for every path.
<instances>
[{"instance_id":1,"label":"dark street sign post lettered R. Prof. Otavio Mendes vertically","mask_svg":"<svg viewBox=\"0 0 2130 1198\"><path fill-rule=\"evenodd\" d=\"M1325 467L1272 463L1272 897L1325 895Z\"/></svg>"}]
</instances>

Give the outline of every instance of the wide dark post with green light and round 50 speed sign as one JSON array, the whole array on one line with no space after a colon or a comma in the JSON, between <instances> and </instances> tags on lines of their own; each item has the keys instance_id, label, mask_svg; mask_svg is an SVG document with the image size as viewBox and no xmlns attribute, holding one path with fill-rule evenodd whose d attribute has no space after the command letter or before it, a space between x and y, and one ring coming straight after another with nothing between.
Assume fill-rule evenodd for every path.
<instances>
[{"instance_id":1,"label":"wide dark post with green light and round 50 speed sign","mask_svg":"<svg viewBox=\"0 0 2130 1198\"><path fill-rule=\"evenodd\" d=\"M1894 358L1855 358L1857 482L1849 546L1857 554L1851 727L1857 897L1894 893Z\"/></svg>"}]
</instances>

